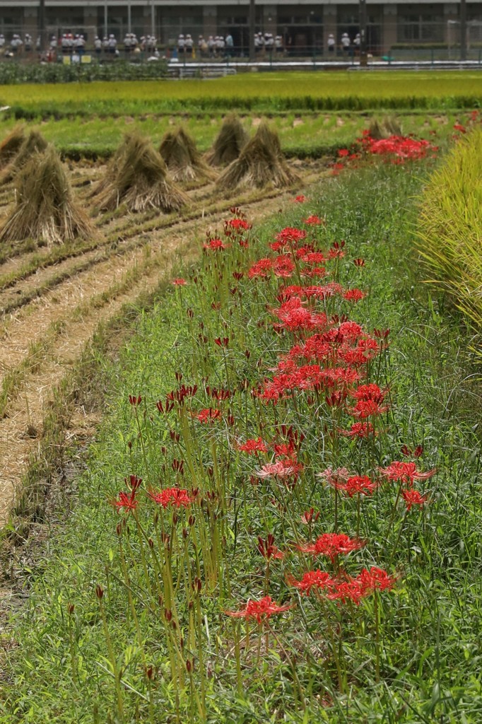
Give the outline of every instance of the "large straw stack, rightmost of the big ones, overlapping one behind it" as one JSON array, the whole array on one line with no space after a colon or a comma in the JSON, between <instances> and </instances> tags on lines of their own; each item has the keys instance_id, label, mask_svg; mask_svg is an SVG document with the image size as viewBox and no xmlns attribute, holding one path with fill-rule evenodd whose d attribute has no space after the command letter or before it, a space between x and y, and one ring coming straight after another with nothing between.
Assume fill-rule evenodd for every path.
<instances>
[{"instance_id":1,"label":"large straw stack, rightmost of the big ones, overlapping one behind it","mask_svg":"<svg viewBox=\"0 0 482 724\"><path fill-rule=\"evenodd\" d=\"M278 135L263 122L242 149L239 159L232 161L216 183L219 188L227 189L241 184L256 188L285 188L297 181L299 178L284 160Z\"/></svg>"}]
</instances>

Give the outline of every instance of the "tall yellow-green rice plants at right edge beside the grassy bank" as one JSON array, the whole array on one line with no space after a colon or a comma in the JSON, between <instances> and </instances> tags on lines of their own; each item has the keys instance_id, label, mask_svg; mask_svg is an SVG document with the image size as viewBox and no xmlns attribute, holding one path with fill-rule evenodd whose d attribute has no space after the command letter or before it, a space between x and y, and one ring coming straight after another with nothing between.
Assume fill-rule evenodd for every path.
<instances>
[{"instance_id":1,"label":"tall yellow-green rice plants at right edge beside the grassy bank","mask_svg":"<svg viewBox=\"0 0 482 724\"><path fill-rule=\"evenodd\" d=\"M432 282L482 330L482 129L462 138L428 182L418 253Z\"/></svg>"}]
</instances>

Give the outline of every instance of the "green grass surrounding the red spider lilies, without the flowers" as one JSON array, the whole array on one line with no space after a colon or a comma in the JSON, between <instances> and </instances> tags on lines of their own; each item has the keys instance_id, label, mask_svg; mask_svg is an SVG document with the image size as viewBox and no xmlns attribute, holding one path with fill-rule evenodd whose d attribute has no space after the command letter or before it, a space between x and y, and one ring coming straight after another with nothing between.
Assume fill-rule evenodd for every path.
<instances>
[{"instance_id":1,"label":"green grass surrounding the red spider lilies, without the flowers","mask_svg":"<svg viewBox=\"0 0 482 724\"><path fill-rule=\"evenodd\" d=\"M103 384L109 380L107 417L91 448L88 469L75 485L75 510L63 526L54 529L46 557L28 581L31 595L14 618L14 639L20 646L9 654L7 683L0 697L2 724L117 722L122 719L119 697L125 722L197 722L196 697L201 696L202 686L206 687L206 720L210 723L478 724L482 711L478 677L481 455L474 421L480 397L467 379L464 338L444 319L437 300L426 297L418 284L410 227L415 219L413 198L424 181L422 166L377 166L341 174L321 188L319 195L312 192L306 206L293 205L266 222L256 231L259 241L247 252L254 258L265 256L266 243L282 226L299 224L308 211L326 215L326 229L317 232L324 244L342 238L347 241L347 256L340 266L342 282L350 278L369 290L368 298L350 314L368 330L391 329L389 354L381 358L378 374L389 384L393 409L384 417L373 447L344 440L339 450L331 449L324 429L330 419L326 408L322 403L323 410L313 413L301 393L296 412L284 403L276 408L279 424L295 424L305 434L306 471L298 492L294 489L288 494L282 487L261 484L253 487L249 479L255 462L235 450L229 427L213 428L213 434L206 428L195 433L193 427L190 453L184 447L189 437L185 437L186 429L179 445L169 434L169 428L174 432L182 429L177 413L160 418L155 404L177 387L177 371L184 374L182 382L198 382L201 388L207 371L211 386L226 386L226 375L231 388L245 377L248 390L262 382L279 353L289 346L285 337L273 334L266 311L266 306L273 306L276 285L238 280L235 283L243 292L240 308L239 298L229 293L219 277L217 290L209 278L222 273L224 262L220 259L217 271L206 271L206 261L205 271L196 272L203 289L191 277L182 292L172 289L151 314L140 317L138 333L130 337L119 362L103 370ZM351 260L359 256L365 259L365 266L355 269ZM238 270L243 269L242 264L240 261ZM229 274L228 285L233 284ZM211 300L218 299L221 309L212 308ZM188 309L193 313L187 313ZM225 334L230 342L223 353L212 340ZM210 340L208 346L203 345L202 335ZM250 361L246 348L251 350ZM256 371L258 360L260 370ZM143 395L139 408L129 405L129 395ZM206 405L203 392L198 392L198 400ZM271 407L256 405L250 395L237 395L229 404L236 412L234 437L245 439L260 422L265 425L263 436L272 434ZM188 420L187 428L191 426ZM324 469L335 453L339 464L364 472L368 465L399 459L402 443L410 447L422 444L418 466L424 470L436 466L437 473L427 484L430 504L423 511L412 511L406 525L397 520L397 530L388 535L393 500L388 508L382 496L376 504L363 502L360 534L368 539L368 547L355 557L368 565L391 566L399 573L394 594L381 594L379 614L370 601L360 609L337 613L337 607L295 597L297 607L273 620L275 633L270 633L269 651L262 649L261 662L256 654L259 632L255 627L251 644L240 650L238 636L244 636L244 628L240 634L222 610L236 608L263 589L263 559L256 551L256 536L266 537L273 531L278 547L292 547L297 536L308 537L307 529L297 521L311 505L322 511L315 530L331 529L333 501L314 473ZM190 455L194 455L191 462ZM172 467L174 458L180 457L185 459L185 476ZM215 461L219 468L211 475L208 468L216 468ZM213 550L222 548L219 580L213 586L203 581L200 598L191 598L193 609L185 605L191 589L179 569L176 597L185 638L174 668L182 668L182 657L196 652L193 683L184 669L185 687L191 692L186 696L171 683L167 641L177 634L169 634L172 627L165 626L163 612L168 604L164 600L158 605L156 591L150 594L146 588L143 548L132 517L130 533L124 531L119 546L115 526L120 518L108 500L124 489L124 478L130 473L156 487L159 480L163 487L174 481L190 487L192 471L203 487L219 491L222 482L228 494L227 508L221 506L222 496L219 498L216 518L207 510L196 513L196 530L197 526L202 529L200 521L206 519L213 531L224 529L226 539L221 546L213 543ZM289 500L282 515L276 500L272 502L278 495L281 505L284 495ZM150 510L143 505L140 519L155 537L144 508ZM179 515L183 520L181 512ZM344 530L352 532L353 506L340 504L339 515ZM182 525L189 527L178 523L181 543L176 545L181 547ZM175 526L169 528L173 535L175 530ZM158 550L157 542L153 545ZM145 542L145 551L148 549ZM127 557L127 573L121 550ZM204 565L209 555L209 550L203 549ZM296 564L290 559L285 570L283 565L279 561L271 565L271 594L277 601L289 597L284 572ZM348 570L353 565L350 560ZM175 567L173 571L175 579ZM186 576L195 575L195 568L188 571L189 566ZM207 576L206 571L204 568ZM104 589L102 607L96 600L97 584ZM198 603L202 610L199 619ZM193 618L190 610L195 612ZM379 676L375 615L381 617L383 640ZM199 630L195 621L201 624ZM333 636L340 641L336 648L347 676L342 694L337 691L330 644ZM199 641L199 654L195 641ZM198 655L203 656L203 665L199 665ZM153 666L151 685L143 673L145 662ZM123 683L116 686L116 680ZM153 710L148 704L151 696ZM331 706L320 703L326 697L331 698Z\"/></svg>"}]
</instances>

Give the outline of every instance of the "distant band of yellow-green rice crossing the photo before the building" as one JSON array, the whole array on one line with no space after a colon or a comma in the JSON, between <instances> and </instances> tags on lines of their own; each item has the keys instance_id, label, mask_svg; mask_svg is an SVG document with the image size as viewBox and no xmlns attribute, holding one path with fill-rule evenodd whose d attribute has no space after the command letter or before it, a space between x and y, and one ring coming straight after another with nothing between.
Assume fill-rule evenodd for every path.
<instances>
[{"instance_id":1,"label":"distant band of yellow-green rice crossing the photo before the building","mask_svg":"<svg viewBox=\"0 0 482 724\"><path fill-rule=\"evenodd\" d=\"M160 111L297 111L478 107L478 72L274 72L215 80L0 86L17 117Z\"/></svg>"}]
</instances>

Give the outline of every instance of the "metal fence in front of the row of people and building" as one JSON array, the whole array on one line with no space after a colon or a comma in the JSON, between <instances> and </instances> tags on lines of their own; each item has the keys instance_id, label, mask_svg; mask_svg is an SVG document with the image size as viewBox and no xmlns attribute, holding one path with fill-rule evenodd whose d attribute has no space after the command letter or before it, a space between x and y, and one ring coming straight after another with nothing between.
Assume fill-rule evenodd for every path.
<instances>
[{"instance_id":1,"label":"metal fence in front of the row of people and building","mask_svg":"<svg viewBox=\"0 0 482 724\"><path fill-rule=\"evenodd\" d=\"M0 19L1 20L1 19ZM265 33L262 25L258 25L257 33L262 40L256 51L256 59L263 62L293 62L297 59L309 59L324 62L357 62L358 46L356 35L359 31L354 23L337 22L335 25L292 24L271 27L272 33ZM124 45L128 32L137 36L135 49ZM48 25L41 49L35 27L30 30L25 26L7 25L0 22L0 60L9 62L37 62L41 56L46 59L47 51L51 61L66 62L66 58L77 54L75 42L72 46L62 43L62 35L83 35L85 47L79 48L80 55L88 56L90 62L113 61L127 58L143 62L154 54L154 43L148 38L156 38L156 54L167 59L177 59L182 64L192 62L231 62L248 61L249 27L247 23L219 22L216 30L210 33L203 25L187 24L182 19L169 22L147 22L145 25L127 22L108 22L101 27L94 25ZM329 49L329 34L334 36L334 46ZM350 37L350 45L343 47L342 34ZM28 35L30 37L28 37ZM179 35L192 38L193 48L182 47ZM114 35L117 46L96 48L96 36L102 41L104 37ZM227 35L232 36L232 46L226 45ZM2 37L3 36L3 37ZM220 40L219 38L222 38ZM376 62L397 61L458 61L460 60L460 23L455 20L447 22L369 22L367 28L368 53ZM185 41L185 38L184 38ZM98 43L97 43L98 44ZM481 62L482 53L482 20L472 20L467 25L466 58L473 62ZM68 61L67 61L68 62Z\"/></svg>"}]
</instances>

